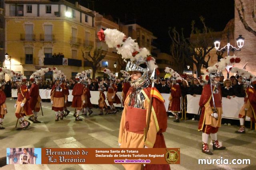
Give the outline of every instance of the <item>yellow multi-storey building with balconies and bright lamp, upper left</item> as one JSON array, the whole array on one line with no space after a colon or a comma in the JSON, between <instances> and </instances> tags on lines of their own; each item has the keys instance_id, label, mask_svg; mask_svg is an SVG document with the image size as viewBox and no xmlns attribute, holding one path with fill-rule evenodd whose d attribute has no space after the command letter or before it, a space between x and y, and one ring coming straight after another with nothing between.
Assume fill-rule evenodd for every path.
<instances>
[{"instance_id":1,"label":"yellow multi-storey building with balconies and bright lamp, upper left","mask_svg":"<svg viewBox=\"0 0 256 170\"><path fill-rule=\"evenodd\" d=\"M57 67L67 78L88 68L82 50L95 45L91 10L65 0L5 0L4 8L5 52L11 57L5 67L27 77L42 67ZM53 58L54 53L65 59Z\"/></svg>"}]
</instances>

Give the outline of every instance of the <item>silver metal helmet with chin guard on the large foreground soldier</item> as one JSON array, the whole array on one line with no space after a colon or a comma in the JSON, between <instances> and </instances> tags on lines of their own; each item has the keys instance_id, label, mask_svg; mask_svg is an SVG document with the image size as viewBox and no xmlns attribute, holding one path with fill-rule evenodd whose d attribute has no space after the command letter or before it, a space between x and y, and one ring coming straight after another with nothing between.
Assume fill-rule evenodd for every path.
<instances>
[{"instance_id":1,"label":"silver metal helmet with chin guard on the large foreground soldier","mask_svg":"<svg viewBox=\"0 0 256 170\"><path fill-rule=\"evenodd\" d=\"M141 63L141 64L143 64L143 63ZM145 84L146 82L149 83L149 80L148 80L149 69L148 69L148 67L142 68L139 64L132 63L131 61L128 61L127 64L126 64L126 69L125 70L129 73L132 72L132 71L138 71L138 72L142 73L142 76L140 78L138 78L138 80L134 80L134 81L132 81L131 79L128 80L128 82L130 83L130 85L132 87L140 87L143 84ZM148 83L146 83L146 84L148 84Z\"/></svg>"}]
</instances>

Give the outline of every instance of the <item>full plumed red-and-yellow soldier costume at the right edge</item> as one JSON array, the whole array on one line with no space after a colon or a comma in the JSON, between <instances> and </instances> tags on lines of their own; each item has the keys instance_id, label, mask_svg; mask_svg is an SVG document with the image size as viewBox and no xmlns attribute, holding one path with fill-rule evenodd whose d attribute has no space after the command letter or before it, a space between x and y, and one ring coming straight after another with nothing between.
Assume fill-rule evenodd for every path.
<instances>
[{"instance_id":1,"label":"full plumed red-and-yellow soldier costume at the right edge","mask_svg":"<svg viewBox=\"0 0 256 170\"><path fill-rule=\"evenodd\" d=\"M242 76L243 88L245 90L246 97L244 98L244 105L238 115L240 120L240 129L236 131L236 133L245 133L244 121L246 116L250 117L252 122L256 122L256 77L252 73L237 67L232 67L230 71Z\"/></svg>"}]
</instances>

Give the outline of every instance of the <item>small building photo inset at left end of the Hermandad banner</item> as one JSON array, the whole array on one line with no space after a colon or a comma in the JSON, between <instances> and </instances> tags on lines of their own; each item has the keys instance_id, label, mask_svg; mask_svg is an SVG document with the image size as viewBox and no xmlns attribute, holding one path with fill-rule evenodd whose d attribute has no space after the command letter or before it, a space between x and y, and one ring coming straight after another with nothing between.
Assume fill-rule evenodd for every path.
<instances>
[{"instance_id":1,"label":"small building photo inset at left end of the Hermandad banner","mask_svg":"<svg viewBox=\"0 0 256 170\"><path fill-rule=\"evenodd\" d=\"M7 148L6 164L41 164L41 148Z\"/></svg>"}]
</instances>

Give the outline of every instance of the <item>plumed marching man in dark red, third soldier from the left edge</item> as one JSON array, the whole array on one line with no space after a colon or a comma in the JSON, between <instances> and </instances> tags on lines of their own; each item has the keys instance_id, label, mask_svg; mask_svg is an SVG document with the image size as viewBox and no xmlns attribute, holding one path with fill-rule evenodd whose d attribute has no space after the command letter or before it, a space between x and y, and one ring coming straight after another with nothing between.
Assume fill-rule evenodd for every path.
<instances>
[{"instance_id":1,"label":"plumed marching man in dark red, third soldier from the left edge","mask_svg":"<svg viewBox=\"0 0 256 170\"><path fill-rule=\"evenodd\" d=\"M43 76L46 72L50 71L50 68L41 68L40 70L37 70L30 76L30 81L33 82L31 85L31 88L29 90L30 93L30 108L33 111L34 116L31 116L28 118L30 121L33 123L41 123L38 121L38 112L40 111L40 102L41 102L41 97L39 95L39 86Z\"/></svg>"}]
</instances>

